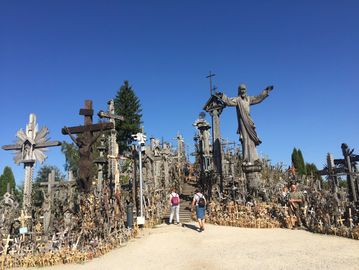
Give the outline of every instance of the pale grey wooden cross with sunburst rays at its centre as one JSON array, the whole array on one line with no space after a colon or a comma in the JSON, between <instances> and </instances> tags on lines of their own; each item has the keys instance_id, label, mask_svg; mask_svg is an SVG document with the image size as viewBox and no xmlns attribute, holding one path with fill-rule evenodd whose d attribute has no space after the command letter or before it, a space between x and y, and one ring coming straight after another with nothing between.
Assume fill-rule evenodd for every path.
<instances>
[{"instance_id":1,"label":"pale grey wooden cross with sunburst rays at its centre","mask_svg":"<svg viewBox=\"0 0 359 270\"><path fill-rule=\"evenodd\" d=\"M14 154L16 155L14 161L16 164L24 164L24 208L31 207L33 169L36 161L43 163L47 158L44 154L47 148L61 145L61 142L59 141L49 141L47 138L48 134L49 130L47 127L43 127L38 131L36 115L32 113L29 117L29 123L26 125L26 130L23 131L20 129L16 133L16 137L18 138L16 143L13 145L4 145L2 147L4 150L14 151Z\"/></svg>"}]
</instances>

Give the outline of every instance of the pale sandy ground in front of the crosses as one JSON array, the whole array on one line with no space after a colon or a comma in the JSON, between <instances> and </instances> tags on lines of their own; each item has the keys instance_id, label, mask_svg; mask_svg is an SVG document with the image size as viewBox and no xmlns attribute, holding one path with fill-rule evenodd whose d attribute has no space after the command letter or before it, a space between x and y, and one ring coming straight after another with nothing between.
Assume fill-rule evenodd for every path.
<instances>
[{"instance_id":1,"label":"pale sandy ground in front of the crosses","mask_svg":"<svg viewBox=\"0 0 359 270\"><path fill-rule=\"evenodd\" d=\"M144 230L125 247L85 264L91 269L359 269L359 241L285 229L245 229L194 223Z\"/></svg>"}]
</instances>

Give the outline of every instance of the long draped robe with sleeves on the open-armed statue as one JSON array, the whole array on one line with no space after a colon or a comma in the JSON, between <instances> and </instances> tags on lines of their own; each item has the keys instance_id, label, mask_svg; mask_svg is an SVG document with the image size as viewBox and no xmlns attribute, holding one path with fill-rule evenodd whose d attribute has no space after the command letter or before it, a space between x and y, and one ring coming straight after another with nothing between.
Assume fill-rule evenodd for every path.
<instances>
[{"instance_id":1,"label":"long draped robe with sleeves on the open-armed statue","mask_svg":"<svg viewBox=\"0 0 359 270\"><path fill-rule=\"evenodd\" d=\"M258 96L245 96L229 98L223 94L222 100L227 106L236 106L238 130L240 134L240 141L242 144L243 159L247 162L254 163L258 159L256 146L261 144L258 138L256 127L250 116L250 105L255 105L262 102L268 97L268 91L263 90Z\"/></svg>"}]
</instances>

